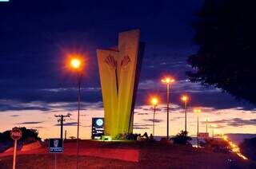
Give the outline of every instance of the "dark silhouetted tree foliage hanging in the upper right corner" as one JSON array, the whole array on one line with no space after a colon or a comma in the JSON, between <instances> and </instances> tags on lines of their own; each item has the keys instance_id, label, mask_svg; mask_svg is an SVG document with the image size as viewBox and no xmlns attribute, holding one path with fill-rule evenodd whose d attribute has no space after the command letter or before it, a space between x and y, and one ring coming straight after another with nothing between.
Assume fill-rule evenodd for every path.
<instances>
[{"instance_id":1,"label":"dark silhouetted tree foliage hanging in the upper right corner","mask_svg":"<svg viewBox=\"0 0 256 169\"><path fill-rule=\"evenodd\" d=\"M256 104L256 10L253 0L206 0L198 11L190 81Z\"/></svg>"}]
</instances>

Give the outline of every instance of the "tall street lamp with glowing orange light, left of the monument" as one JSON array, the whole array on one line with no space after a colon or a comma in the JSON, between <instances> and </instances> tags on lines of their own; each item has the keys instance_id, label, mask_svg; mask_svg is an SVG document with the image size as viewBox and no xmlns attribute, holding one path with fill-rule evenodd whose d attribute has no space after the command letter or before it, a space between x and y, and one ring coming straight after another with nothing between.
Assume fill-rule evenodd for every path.
<instances>
[{"instance_id":1,"label":"tall street lamp with glowing orange light, left of the monument","mask_svg":"<svg viewBox=\"0 0 256 169\"><path fill-rule=\"evenodd\" d=\"M70 67L78 75L78 131L77 131L77 163L78 169L78 156L79 156L79 126L80 126L80 95L81 95L81 81L82 81L82 59L80 57L72 57L70 59Z\"/></svg>"}]
</instances>

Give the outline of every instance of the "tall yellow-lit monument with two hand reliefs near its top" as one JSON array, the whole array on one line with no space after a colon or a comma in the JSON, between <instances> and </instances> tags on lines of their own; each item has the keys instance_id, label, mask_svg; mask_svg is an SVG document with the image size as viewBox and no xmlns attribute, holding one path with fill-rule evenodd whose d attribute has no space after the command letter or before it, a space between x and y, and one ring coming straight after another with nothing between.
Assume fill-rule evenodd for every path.
<instances>
[{"instance_id":1,"label":"tall yellow-lit monument with two hand reliefs near its top","mask_svg":"<svg viewBox=\"0 0 256 169\"><path fill-rule=\"evenodd\" d=\"M104 134L107 136L133 131L134 103L144 50L139 36L139 29L122 32L118 35L118 47L97 49Z\"/></svg>"}]
</instances>

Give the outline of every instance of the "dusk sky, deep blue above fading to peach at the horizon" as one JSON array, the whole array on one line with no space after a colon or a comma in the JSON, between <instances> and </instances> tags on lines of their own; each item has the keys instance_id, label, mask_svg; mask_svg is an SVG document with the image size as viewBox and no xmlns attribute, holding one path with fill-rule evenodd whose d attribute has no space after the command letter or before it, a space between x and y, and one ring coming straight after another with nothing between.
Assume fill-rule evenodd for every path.
<instances>
[{"instance_id":1,"label":"dusk sky, deep blue above fading to peach at the horizon","mask_svg":"<svg viewBox=\"0 0 256 169\"><path fill-rule=\"evenodd\" d=\"M97 48L118 43L118 33L140 29L146 43L134 115L134 133L151 132L153 111L148 98L160 96L155 134L166 135L166 86L161 78L176 79L171 86L170 134L184 128L180 96L190 96L188 131L196 133L193 108L202 108L215 132L256 133L254 105L222 92L190 83L187 57L194 45L196 13L203 0L182 1L33 1L0 2L0 132L14 126L37 128L42 138L59 136L54 115L70 113L67 136L76 135L77 79L65 68L68 53L86 59L82 78L82 138L90 138L91 118L104 116ZM218 65L216 65L218 66Z\"/></svg>"}]
</instances>

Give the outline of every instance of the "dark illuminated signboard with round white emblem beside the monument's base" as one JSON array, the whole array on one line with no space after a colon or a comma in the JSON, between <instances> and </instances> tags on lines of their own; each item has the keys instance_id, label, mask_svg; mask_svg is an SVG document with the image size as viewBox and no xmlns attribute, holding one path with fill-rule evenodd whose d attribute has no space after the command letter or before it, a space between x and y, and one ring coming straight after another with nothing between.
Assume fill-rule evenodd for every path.
<instances>
[{"instance_id":1,"label":"dark illuminated signboard with round white emblem beside the monument's base","mask_svg":"<svg viewBox=\"0 0 256 169\"><path fill-rule=\"evenodd\" d=\"M104 118L102 117L92 118L91 139L99 140L99 139L102 139L103 135L104 135Z\"/></svg>"}]
</instances>

